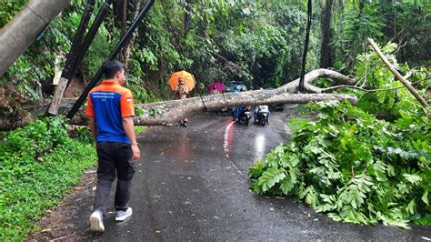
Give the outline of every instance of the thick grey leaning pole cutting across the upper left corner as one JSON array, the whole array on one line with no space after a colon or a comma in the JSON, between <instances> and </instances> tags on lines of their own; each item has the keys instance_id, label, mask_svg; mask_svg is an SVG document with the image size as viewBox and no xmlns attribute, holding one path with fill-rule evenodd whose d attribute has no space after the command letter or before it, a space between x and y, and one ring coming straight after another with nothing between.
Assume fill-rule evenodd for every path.
<instances>
[{"instance_id":1,"label":"thick grey leaning pole cutting across the upper left corner","mask_svg":"<svg viewBox=\"0 0 431 242\"><path fill-rule=\"evenodd\" d=\"M0 76L25 52L69 0L30 0L0 30Z\"/></svg>"}]
</instances>

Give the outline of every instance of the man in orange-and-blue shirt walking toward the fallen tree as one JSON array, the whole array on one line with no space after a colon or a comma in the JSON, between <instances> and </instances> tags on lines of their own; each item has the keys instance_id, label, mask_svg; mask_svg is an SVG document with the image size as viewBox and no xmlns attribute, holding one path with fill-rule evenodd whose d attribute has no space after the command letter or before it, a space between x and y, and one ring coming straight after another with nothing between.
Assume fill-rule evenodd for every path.
<instances>
[{"instance_id":1,"label":"man in orange-and-blue shirt walking toward the fallen tree","mask_svg":"<svg viewBox=\"0 0 431 242\"><path fill-rule=\"evenodd\" d=\"M105 231L103 218L115 174L115 221L123 221L132 215L132 207L127 207L127 202L135 160L141 156L132 119L135 116L134 99L130 90L124 87L123 64L109 60L102 68L105 80L88 94L85 112L98 156L95 204L89 218L90 229L95 232Z\"/></svg>"}]
</instances>

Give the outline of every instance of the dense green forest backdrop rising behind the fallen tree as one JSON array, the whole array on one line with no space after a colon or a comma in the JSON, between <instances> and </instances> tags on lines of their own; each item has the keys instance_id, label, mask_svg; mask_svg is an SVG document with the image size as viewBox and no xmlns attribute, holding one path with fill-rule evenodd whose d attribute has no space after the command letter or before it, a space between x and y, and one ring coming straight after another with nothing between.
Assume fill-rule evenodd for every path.
<instances>
[{"instance_id":1,"label":"dense green forest backdrop rising behind the fallen tree","mask_svg":"<svg viewBox=\"0 0 431 242\"><path fill-rule=\"evenodd\" d=\"M26 2L2 1L0 26ZM95 1L95 13L103 3ZM427 1L313 3L306 71L320 66L353 74L356 56L368 49L366 37L398 44L400 63L429 66ZM83 0L71 1L0 82L13 84L31 100L51 96L55 66L65 64L85 5ZM95 75L143 5L143 0L114 1L75 76L85 82ZM248 86L276 87L300 75L305 29L306 1L155 1L129 53L123 51L118 58L125 62L129 87L142 103L168 98L167 78L179 69L194 73L201 86L240 79Z\"/></svg>"}]
</instances>

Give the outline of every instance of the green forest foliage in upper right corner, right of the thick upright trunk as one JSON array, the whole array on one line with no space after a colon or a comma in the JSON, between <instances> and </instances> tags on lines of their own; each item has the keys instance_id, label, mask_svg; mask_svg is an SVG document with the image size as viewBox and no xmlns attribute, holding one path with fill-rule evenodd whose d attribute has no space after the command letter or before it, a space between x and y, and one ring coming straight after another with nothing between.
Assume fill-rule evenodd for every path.
<instances>
[{"instance_id":1,"label":"green forest foliage in upper right corner, right of the thick upright trunk","mask_svg":"<svg viewBox=\"0 0 431 242\"><path fill-rule=\"evenodd\" d=\"M337 2L337 1L336 1ZM366 52L366 37L380 43L403 45L397 53L402 62L429 65L431 6L427 1L356 1L336 3L334 39L336 68L352 72L356 55ZM425 48L424 48L425 47Z\"/></svg>"}]
</instances>

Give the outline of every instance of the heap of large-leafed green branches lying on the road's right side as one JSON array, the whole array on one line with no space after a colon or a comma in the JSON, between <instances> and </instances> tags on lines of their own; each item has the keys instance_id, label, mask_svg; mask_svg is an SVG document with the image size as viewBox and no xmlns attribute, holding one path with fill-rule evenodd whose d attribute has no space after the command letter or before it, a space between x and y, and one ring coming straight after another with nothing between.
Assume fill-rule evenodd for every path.
<instances>
[{"instance_id":1,"label":"heap of large-leafed green branches lying on the road's right side","mask_svg":"<svg viewBox=\"0 0 431 242\"><path fill-rule=\"evenodd\" d=\"M431 225L426 112L401 112L392 124L348 103L317 107L318 121L299 122L290 144L250 168L251 189L295 195L336 221Z\"/></svg>"}]
</instances>

